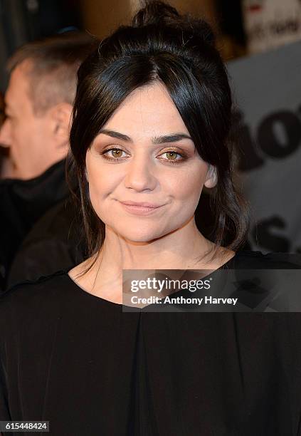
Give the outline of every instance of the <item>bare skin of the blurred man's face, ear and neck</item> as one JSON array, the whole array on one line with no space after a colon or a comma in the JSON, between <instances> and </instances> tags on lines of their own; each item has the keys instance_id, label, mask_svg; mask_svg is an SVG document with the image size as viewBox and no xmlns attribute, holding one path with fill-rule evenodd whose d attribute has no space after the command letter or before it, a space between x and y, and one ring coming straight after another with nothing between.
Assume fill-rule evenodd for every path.
<instances>
[{"instance_id":1,"label":"bare skin of the blurred man's face, ear and neck","mask_svg":"<svg viewBox=\"0 0 301 436\"><path fill-rule=\"evenodd\" d=\"M0 145L9 147L10 162L9 172L1 177L33 179L62 160L68 151L72 106L62 102L36 113L29 92L30 68L28 60L16 66L6 90L6 120L0 130Z\"/></svg>"}]
</instances>

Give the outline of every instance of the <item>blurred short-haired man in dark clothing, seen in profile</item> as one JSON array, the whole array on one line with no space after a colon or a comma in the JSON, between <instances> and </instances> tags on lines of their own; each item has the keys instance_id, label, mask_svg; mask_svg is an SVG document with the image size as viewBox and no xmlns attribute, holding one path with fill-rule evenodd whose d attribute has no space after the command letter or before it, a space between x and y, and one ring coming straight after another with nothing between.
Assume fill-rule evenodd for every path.
<instances>
[{"instance_id":1,"label":"blurred short-haired man in dark clothing, seen in profile","mask_svg":"<svg viewBox=\"0 0 301 436\"><path fill-rule=\"evenodd\" d=\"M0 181L2 290L11 268L10 284L54 272L50 242L61 245L60 266L71 267L79 260L73 256L74 241L68 241L73 212L65 203L70 197L65 156L76 73L93 46L87 34L69 32L28 43L9 60L6 119L0 130L0 144L9 148Z\"/></svg>"}]
</instances>

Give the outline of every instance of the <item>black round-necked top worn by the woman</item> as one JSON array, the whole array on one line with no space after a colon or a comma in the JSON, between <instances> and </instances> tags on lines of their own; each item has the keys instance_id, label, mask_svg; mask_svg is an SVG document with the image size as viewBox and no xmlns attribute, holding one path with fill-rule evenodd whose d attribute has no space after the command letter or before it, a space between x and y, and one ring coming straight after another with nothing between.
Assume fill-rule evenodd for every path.
<instances>
[{"instance_id":1,"label":"black round-necked top worn by the woman","mask_svg":"<svg viewBox=\"0 0 301 436\"><path fill-rule=\"evenodd\" d=\"M284 267L251 251L224 267L250 265ZM0 320L0 420L47 420L54 436L301 435L301 313L122 312L58 272L9 291Z\"/></svg>"}]
</instances>

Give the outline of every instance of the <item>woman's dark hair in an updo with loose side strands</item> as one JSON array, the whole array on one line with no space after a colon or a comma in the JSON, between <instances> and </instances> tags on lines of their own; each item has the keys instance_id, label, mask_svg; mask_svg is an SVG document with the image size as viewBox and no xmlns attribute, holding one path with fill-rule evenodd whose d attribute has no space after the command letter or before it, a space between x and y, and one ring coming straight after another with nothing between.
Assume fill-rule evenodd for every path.
<instances>
[{"instance_id":1,"label":"woman's dark hair in an updo with loose side strands","mask_svg":"<svg viewBox=\"0 0 301 436\"><path fill-rule=\"evenodd\" d=\"M122 101L154 81L167 88L201 158L216 167L218 182L210 195L213 222L205 236L235 250L245 242L248 214L232 181L232 99L226 67L206 21L180 16L162 1L147 1L132 26L117 28L78 70L70 158L79 180L88 254L100 250L105 224L90 204L86 152ZM199 228L201 221L196 219Z\"/></svg>"}]
</instances>

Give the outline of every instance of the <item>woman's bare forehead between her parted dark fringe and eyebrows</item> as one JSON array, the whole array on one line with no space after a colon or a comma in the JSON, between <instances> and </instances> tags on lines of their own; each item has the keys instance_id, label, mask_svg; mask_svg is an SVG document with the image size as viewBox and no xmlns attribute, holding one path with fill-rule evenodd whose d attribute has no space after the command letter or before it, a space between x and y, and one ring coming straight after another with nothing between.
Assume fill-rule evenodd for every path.
<instances>
[{"instance_id":1,"label":"woman's bare forehead between her parted dark fringe and eyebrows","mask_svg":"<svg viewBox=\"0 0 301 436\"><path fill-rule=\"evenodd\" d=\"M104 128L128 133L188 133L184 121L162 83L137 88L121 103Z\"/></svg>"}]
</instances>

